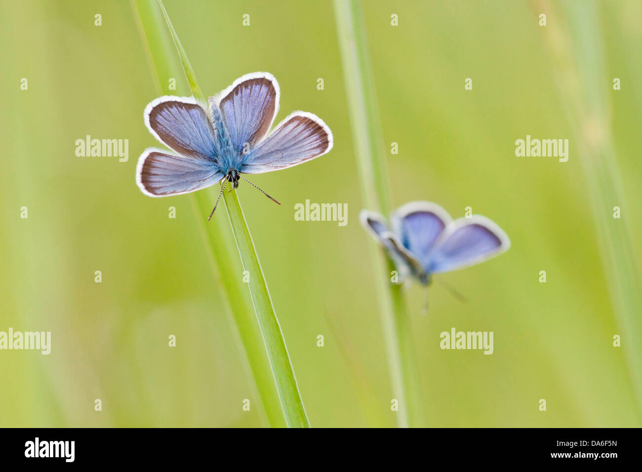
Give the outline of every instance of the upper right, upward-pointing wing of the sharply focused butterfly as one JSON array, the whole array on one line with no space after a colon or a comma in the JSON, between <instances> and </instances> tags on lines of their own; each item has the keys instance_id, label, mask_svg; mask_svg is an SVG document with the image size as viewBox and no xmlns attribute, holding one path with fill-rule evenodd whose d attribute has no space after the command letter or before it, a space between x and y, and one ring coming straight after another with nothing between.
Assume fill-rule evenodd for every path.
<instances>
[{"instance_id":1,"label":"upper right, upward-pointing wing of the sharply focused butterfly","mask_svg":"<svg viewBox=\"0 0 642 472\"><path fill-rule=\"evenodd\" d=\"M279 96L279 83L266 72L245 74L216 96L236 153L247 152L267 134Z\"/></svg>"}]
</instances>

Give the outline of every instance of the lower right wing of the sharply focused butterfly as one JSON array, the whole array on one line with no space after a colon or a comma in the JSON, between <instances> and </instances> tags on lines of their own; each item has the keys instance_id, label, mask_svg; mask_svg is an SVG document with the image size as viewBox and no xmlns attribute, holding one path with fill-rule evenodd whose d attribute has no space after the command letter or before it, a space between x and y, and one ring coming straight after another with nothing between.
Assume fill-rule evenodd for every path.
<instances>
[{"instance_id":1,"label":"lower right wing of the sharply focused butterfly","mask_svg":"<svg viewBox=\"0 0 642 472\"><path fill-rule=\"evenodd\" d=\"M332 146L332 132L322 119L294 112L247 153L239 171L257 174L285 169L324 155Z\"/></svg>"}]
</instances>

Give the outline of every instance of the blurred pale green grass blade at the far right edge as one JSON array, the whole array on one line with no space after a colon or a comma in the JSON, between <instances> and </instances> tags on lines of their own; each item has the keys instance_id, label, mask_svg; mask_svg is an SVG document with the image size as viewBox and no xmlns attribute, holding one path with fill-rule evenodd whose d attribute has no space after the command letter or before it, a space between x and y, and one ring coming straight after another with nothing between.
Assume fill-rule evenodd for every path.
<instances>
[{"instance_id":1,"label":"blurred pale green grass blade at the far right edge","mask_svg":"<svg viewBox=\"0 0 642 472\"><path fill-rule=\"evenodd\" d=\"M554 60L562 103L577 142L589 191L595 229L600 242L617 326L622 334L632 388L642 422L642 300L640 276L627 216L612 218L612 207L632 208L625 202L623 180L609 124L611 78L605 76L605 57L600 9L594 0L564 3L555 8L549 1L534 3L537 12L560 21L542 28ZM626 338L626 341L625 341Z\"/></svg>"}]
</instances>

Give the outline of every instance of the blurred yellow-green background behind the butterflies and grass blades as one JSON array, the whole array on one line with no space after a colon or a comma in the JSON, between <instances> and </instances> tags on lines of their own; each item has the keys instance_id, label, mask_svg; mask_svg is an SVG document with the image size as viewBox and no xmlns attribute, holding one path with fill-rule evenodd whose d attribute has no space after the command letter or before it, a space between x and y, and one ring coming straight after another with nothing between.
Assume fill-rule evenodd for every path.
<instances>
[{"instance_id":1,"label":"blurred yellow-green background behind the butterflies and grass blades","mask_svg":"<svg viewBox=\"0 0 642 472\"><path fill-rule=\"evenodd\" d=\"M243 183L239 194L312 426L395 426L333 4L167 0L166 8L206 95L269 71L281 85L277 121L301 109L333 130L328 155L256 176L280 207ZM635 203L614 222L630 226L639 261L642 4L598 9L605 62L596 74L621 191ZM438 277L467 303L435 283L424 316L425 289L408 290L432 426L639 426L623 348L612 346L613 335L632 342L635 333L616 324L593 189L539 10L508 0L366 3L386 150L399 144L387 155L394 205L430 200L454 217L471 206L512 240L499 258ZM132 4L2 0L0 29L0 331L52 333L49 356L0 351L0 426L265 425L221 309L198 222L207 215L189 196L148 198L135 185L138 156L159 143L143 124L156 93ZM189 95L175 76L177 91L161 78L164 93ZM473 91L464 90L467 77ZM87 134L129 139L128 161L76 157L74 143ZM568 138L569 161L516 157L526 134ZM347 203L347 226L295 221L294 205L306 199ZM227 220L224 210L215 217ZM238 274L224 276L241 272L239 262ZM453 327L494 331L494 354L442 351L439 333Z\"/></svg>"}]
</instances>

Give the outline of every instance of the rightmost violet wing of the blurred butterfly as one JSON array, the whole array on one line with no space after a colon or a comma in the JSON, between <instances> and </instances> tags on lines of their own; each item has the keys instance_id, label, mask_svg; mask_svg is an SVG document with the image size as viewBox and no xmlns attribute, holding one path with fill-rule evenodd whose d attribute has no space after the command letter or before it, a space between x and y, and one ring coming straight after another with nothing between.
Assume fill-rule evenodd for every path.
<instances>
[{"instance_id":1,"label":"rightmost violet wing of the blurred butterfly","mask_svg":"<svg viewBox=\"0 0 642 472\"><path fill-rule=\"evenodd\" d=\"M438 274L478 264L510 248L507 234L480 215L447 225L428 255L428 272Z\"/></svg>"}]
</instances>

